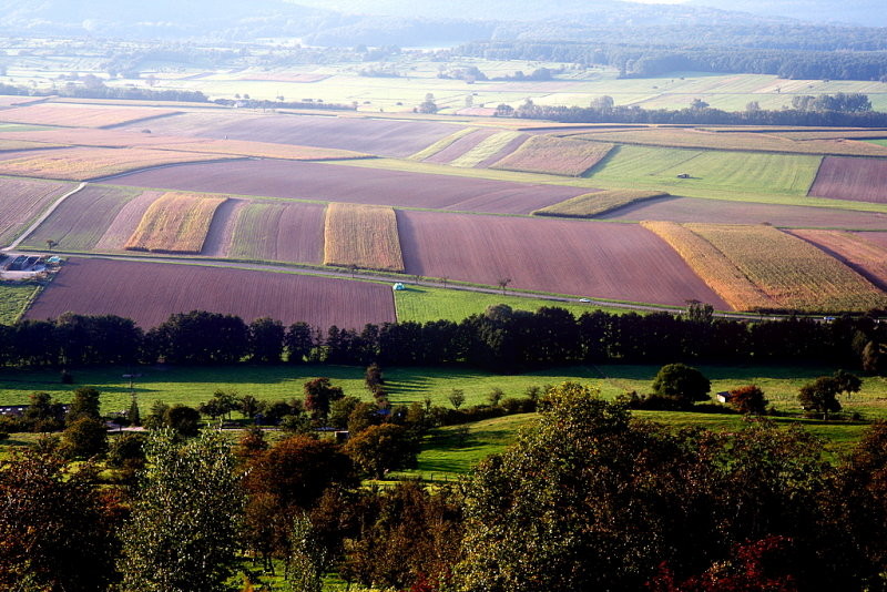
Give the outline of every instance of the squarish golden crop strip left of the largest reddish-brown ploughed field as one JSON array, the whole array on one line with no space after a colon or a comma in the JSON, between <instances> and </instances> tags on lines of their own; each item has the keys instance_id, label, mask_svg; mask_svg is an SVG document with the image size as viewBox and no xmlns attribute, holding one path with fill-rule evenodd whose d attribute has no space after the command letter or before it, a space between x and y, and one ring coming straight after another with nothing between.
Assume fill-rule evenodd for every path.
<instances>
[{"instance_id":1,"label":"squarish golden crop strip left of the largest reddish-brown ploughed field","mask_svg":"<svg viewBox=\"0 0 887 592\"><path fill-rule=\"evenodd\" d=\"M324 225L324 265L402 272L394 208L329 204Z\"/></svg>"}]
</instances>

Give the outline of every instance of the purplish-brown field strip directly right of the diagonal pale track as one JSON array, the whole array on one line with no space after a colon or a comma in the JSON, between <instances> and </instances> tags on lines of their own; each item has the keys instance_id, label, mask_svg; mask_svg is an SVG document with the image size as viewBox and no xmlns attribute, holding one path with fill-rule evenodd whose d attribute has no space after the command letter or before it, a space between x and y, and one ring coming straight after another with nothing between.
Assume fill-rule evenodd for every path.
<instances>
[{"instance_id":1,"label":"purplish-brown field strip directly right of the diagonal pale track","mask_svg":"<svg viewBox=\"0 0 887 592\"><path fill-rule=\"evenodd\" d=\"M23 245L45 248L55 241L63 251L92 251L126 204L142 192L88 185L65 198Z\"/></svg>"}]
</instances>

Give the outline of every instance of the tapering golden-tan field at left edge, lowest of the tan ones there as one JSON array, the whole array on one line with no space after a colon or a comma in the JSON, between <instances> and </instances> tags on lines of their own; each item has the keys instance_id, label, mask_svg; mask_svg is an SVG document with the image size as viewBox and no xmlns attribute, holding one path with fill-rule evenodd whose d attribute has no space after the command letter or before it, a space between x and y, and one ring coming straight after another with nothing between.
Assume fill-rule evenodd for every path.
<instances>
[{"instance_id":1,"label":"tapering golden-tan field at left edge, lowest of the tan ones there","mask_svg":"<svg viewBox=\"0 0 887 592\"><path fill-rule=\"evenodd\" d=\"M89 181L137 169L226 159L228 156L166 150L70 147L12 153L8 160L0 160L0 174Z\"/></svg>"}]
</instances>

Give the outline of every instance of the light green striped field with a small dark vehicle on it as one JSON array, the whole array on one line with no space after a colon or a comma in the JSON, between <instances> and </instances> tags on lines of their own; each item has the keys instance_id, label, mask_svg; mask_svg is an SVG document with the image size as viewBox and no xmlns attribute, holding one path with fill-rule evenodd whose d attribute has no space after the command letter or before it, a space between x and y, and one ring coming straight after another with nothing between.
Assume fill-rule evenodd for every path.
<instances>
[{"instance_id":1,"label":"light green striped field with a small dark vehicle on it","mask_svg":"<svg viewBox=\"0 0 887 592\"><path fill-rule=\"evenodd\" d=\"M806 195L819 156L648 146L619 146L595 167L591 182L608 181L634 185L731 190L764 194ZM687 174L690 178L677 178Z\"/></svg>"}]
</instances>

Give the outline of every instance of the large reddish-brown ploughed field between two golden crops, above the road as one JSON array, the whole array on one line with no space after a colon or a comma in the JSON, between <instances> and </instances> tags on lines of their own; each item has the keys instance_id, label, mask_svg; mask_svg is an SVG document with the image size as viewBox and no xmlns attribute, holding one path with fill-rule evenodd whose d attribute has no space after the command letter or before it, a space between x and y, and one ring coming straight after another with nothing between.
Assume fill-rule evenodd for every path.
<instances>
[{"instance_id":1,"label":"large reddish-brown ploughed field between two golden crops, above the road","mask_svg":"<svg viewBox=\"0 0 887 592\"><path fill-rule=\"evenodd\" d=\"M727 305L653 233L625 224L397 212L406 272L508 288Z\"/></svg>"}]
</instances>

